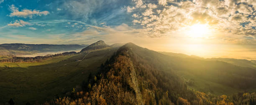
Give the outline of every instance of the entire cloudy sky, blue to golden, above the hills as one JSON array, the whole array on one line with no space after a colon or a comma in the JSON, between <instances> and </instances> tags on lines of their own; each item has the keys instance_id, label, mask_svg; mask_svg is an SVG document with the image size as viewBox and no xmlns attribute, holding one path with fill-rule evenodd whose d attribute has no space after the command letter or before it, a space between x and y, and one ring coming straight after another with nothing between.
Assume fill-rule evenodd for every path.
<instances>
[{"instance_id":1,"label":"entire cloudy sky, blue to golden, above the hills","mask_svg":"<svg viewBox=\"0 0 256 105\"><path fill-rule=\"evenodd\" d=\"M0 44L97 40L256 60L256 0L0 0Z\"/></svg>"}]
</instances>

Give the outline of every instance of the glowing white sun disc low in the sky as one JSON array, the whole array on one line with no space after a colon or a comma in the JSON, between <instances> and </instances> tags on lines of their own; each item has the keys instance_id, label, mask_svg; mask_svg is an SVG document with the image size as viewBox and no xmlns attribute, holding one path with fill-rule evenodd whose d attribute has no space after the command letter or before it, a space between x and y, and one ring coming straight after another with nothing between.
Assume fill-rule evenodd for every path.
<instances>
[{"instance_id":1,"label":"glowing white sun disc low in the sky","mask_svg":"<svg viewBox=\"0 0 256 105\"><path fill-rule=\"evenodd\" d=\"M188 27L187 35L190 37L206 37L210 34L210 28L207 24L195 24Z\"/></svg>"}]
</instances>

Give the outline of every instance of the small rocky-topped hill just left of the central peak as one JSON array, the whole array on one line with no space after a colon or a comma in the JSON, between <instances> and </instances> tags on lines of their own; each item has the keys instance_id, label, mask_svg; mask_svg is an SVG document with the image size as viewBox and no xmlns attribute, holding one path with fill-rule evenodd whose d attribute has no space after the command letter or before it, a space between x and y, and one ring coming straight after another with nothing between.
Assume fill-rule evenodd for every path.
<instances>
[{"instance_id":1,"label":"small rocky-topped hill just left of the central peak","mask_svg":"<svg viewBox=\"0 0 256 105\"><path fill-rule=\"evenodd\" d=\"M81 50L81 52L90 52L90 51L103 50L108 48L110 48L110 46L107 45L104 41L100 40L85 47L84 49Z\"/></svg>"}]
</instances>

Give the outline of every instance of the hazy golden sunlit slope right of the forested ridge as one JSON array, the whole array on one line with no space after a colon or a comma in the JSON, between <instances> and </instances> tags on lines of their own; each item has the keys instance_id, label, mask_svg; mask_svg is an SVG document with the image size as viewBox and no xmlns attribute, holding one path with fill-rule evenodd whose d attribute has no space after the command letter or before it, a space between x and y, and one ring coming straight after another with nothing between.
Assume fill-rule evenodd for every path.
<instances>
[{"instance_id":1,"label":"hazy golden sunlit slope right of the forested ridge","mask_svg":"<svg viewBox=\"0 0 256 105\"><path fill-rule=\"evenodd\" d=\"M134 44L130 44L130 47L136 56L152 62L151 65L156 65L159 70L176 72L196 90L215 95L230 95L256 87L256 70L253 68L239 67L222 61L168 56Z\"/></svg>"}]
</instances>

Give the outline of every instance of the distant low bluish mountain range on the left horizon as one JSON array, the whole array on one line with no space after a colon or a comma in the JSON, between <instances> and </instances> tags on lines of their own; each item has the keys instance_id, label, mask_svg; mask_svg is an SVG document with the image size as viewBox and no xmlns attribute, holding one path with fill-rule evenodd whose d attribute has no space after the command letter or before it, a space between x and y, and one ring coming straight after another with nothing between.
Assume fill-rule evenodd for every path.
<instances>
[{"instance_id":1,"label":"distant low bluish mountain range on the left horizon","mask_svg":"<svg viewBox=\"0 0 256 105\"><path fill-rule=\"evenodd\" d=\"M78 50L87 45L49 45L49 44L1 44L1 55L30 55L39 52L57 52L67 50Z\"/></svg>"}]
</instances>

